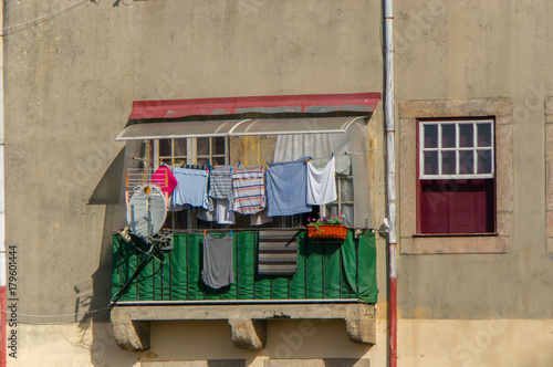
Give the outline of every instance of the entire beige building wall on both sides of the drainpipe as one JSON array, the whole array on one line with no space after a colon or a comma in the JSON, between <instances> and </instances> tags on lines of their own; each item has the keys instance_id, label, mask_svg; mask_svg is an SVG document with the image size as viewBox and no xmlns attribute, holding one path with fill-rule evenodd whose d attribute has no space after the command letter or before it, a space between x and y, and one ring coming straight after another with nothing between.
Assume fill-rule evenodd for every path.
<instances>
[{"instance_id":1,"label":"entire beige building wall on both sides of the drainpipe","mask_svg":"<svg viewBox=\"0 0 553 367\"><path fill-rule=\"evenodd\" d=\"M116 229L124 147L114 137L127 122L132 101L382 92L380 1L113 3L85 2L3 38L6 231L7 244L19 251L19 312L23 314L61 315L75 313L76 305L106 306L108 234ZM4 27L66 4L62 0L6 2ZM472 365L493 366L493 358L504 350L515 354L508 361L513 366L547 365L546 356L530 356L553 346L544 138L544 101L553 95L553 4L414 0L396 1L394 12L398 104L509 98L513 116L510 250L399 256L400 365L456 361L451 352L482 337L480 332L490 319L512 324L501 339L474 354ZM376 157L384 141L374 141L378 223L384 218L385 185L384 160ZM398 178L408 179L400 171ZM398 191L399 198L413 195ZM349 345L343 325L316 324L321 334L306 339L293 357L363 356L373 366L384 365L386 248L383 240L377 247L377 345L372 349ZM188 353L211 357L211 350L192 350L186 344L167 349L177 337L194 342L196 328L188 324L154 324L152 354L133 354L108 344L113 340L106 312L95 314L95 325L91 317L80 324L72 323L72 316L21 315L20 321L30 323L18 326L22 366L38 361L133 366L138 358L185 360ZM58 325L35 325L44 323ZM215 335L220 349L212 356L244 356L258 364L274 356L280 331L293 332L298 326L276 324L281 326L270 327L267 350L259 354L232 349L223 323L204 326L199 336L207 343ZM102 345L105 352L98 353Z\"/></svg>"}]
</instances>

